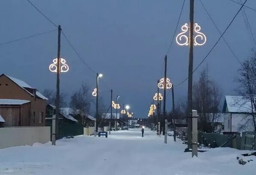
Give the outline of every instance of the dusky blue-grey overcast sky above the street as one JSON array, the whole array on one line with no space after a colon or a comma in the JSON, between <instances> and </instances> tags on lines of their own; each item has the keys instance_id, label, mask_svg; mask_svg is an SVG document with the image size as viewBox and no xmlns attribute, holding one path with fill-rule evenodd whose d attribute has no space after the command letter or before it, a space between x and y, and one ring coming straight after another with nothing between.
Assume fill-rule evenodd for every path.
<instances>
[{"instance_id":1,"label":"dusky blue-grey overcast sky above the street","mask_svg":"<svg viewBox=\"0 0 256 175\"><path fill-rule=\"evenodd\" d=\"M236 0L238 1L238 0ZM243 0L244 1L244 0ZM101 91L113 89L121 96L120 103L129 104L136 117L147 117L157 79L163 76L164 56L168 51L183 0L31 0L55 24L60 24L85 62L104 77ZM216 25L225 30L239 4L230 0L202 0ZM246 3L256 9L256 1ZM253 35L256 37L256 11L245 8ZM27 0L0 1L0 43L53 30ZM219 37L199 0L195 0L195 22L207 36L203 46L194 49L194 67L201 62ZM186 0L177 32L189 22L189 0ZM54 31L30 39L0 45L1 73L26 81L39 90L55 89L55 73L49 64L57 55L57 33ZM244 22L242 11L225 39L243 61L256 45ZM188 47L175 42L168 54L167 75L175 84L188 75ZM70 71L61 74L61 92L68 95L86 82L93 89L96 75L91 72L61 37L61 57L67 60ZM214 48L193 77L208 64L209 76L216 81L223 95L233 95L237 84L239 63L222 40ZM187 81L174 89L175 100L186 99ZM110 93L100 94L105 102ZM68 96L69 98L69 96ZM167 109L171 110L171 94Z\"/></svg>"}]
</instances>

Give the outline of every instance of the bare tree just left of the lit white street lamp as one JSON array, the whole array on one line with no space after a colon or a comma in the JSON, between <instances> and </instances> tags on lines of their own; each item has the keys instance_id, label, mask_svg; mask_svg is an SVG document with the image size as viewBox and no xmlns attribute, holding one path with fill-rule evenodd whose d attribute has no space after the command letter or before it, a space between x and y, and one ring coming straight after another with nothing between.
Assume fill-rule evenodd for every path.
<instances>
[{"instance_id":1,"label":"bare tree just left of the lit white street lamp","mask_svg":"<svg viewBox=\"0 0 256 175\"><path fill-rule=\"evenodd\" d=\"M81 122L85 124L85 117L88 115L91 106L90 88L85 83L82 83L78 91L74 92L70 100L70 108L73 113L79 113Z\"/></svg>"}]
</instances>

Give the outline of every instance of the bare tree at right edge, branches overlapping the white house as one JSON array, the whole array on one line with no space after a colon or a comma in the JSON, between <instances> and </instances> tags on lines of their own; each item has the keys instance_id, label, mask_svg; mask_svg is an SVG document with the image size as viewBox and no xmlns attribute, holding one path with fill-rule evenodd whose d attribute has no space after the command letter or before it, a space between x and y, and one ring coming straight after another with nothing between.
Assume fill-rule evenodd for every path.
<instances>
[{"instance_id":1,"label":"bare tree at right edge, branches overlapping the white house","mask_svg":"<svg viewBox=\"0 0 256 175\"><path fill-rule=\"evenodd\" d=\"M256 53L253 54L242 63L241 68L238 70L239 76L237 81L239 83L236 92L242 96L243 103L249 104L246 108L249 109L251 115L248 115L245 119L244 126L247 127L248 124L253 123L254 131L256 131L256 119L255 119L255 109L256 109ZM244 106L244 104L241 104Z\"/></svg>"}]
</instances>

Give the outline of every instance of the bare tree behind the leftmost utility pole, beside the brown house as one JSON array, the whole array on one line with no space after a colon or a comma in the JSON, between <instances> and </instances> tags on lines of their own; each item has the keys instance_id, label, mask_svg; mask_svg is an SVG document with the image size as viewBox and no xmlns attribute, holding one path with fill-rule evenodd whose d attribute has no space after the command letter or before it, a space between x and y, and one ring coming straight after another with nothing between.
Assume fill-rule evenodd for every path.
<instances>
[{"instance_id":1,"label":"bare tree behind the leftmost utility pole, beside the brown house","mask_svg":"<svg viewBox=\"0 0 256 175\"><path fill-rule=\"evenodd\" d=\"M44 89L43 95L48 98L47 103L55 105L56 100L56 91L53 91L52 89ZM60 107L63 108L67 106L66 104L66 94L61 93L60 94Z\"/></svg>"}]
</instances>

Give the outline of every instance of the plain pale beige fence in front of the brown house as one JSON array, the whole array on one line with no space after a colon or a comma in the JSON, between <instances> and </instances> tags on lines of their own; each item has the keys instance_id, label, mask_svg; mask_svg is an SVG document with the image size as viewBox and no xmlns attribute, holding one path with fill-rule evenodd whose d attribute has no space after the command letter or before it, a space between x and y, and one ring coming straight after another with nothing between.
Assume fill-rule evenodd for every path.
<instances>
[{"instance_id":1,"label":"plain pale beige fence in front of the brown house","mask_svg":"<svg viewBox=\"0 0 256 175\"><path fill-rule=\"evenodd\" d=\"M50 127L0 128L0 148L46 143L50 138Z\"/></svg>"}]
</instances>

